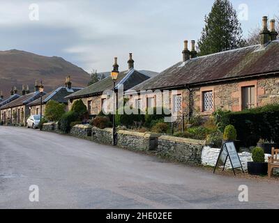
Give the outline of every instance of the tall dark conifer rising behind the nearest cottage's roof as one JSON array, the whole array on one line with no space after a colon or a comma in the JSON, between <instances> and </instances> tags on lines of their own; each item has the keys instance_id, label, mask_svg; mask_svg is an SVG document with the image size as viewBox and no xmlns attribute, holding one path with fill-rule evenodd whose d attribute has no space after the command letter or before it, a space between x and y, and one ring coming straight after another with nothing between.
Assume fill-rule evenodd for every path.
<instances>
[{"instance_id":1,"label":"tall dark conifer rising behind the nearest cottage's roof","mask_svg":"<svg viewBox=\"0 0 279 223\"><path fill-rule=\"evenodd\" d=\"M202 37L198 40L199 55L243 47L241 24L229 0L216 0L205 17Z\"/></svg>"}]
</instances>

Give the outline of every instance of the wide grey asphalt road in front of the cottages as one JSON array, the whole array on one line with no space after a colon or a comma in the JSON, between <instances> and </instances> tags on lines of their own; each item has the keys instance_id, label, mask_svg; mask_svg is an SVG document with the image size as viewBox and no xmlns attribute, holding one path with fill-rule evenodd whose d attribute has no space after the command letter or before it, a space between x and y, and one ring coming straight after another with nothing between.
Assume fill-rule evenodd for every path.
<instances>
[{"instance_id":1,"label":"wide grey asphalt road in front of the cottages","mask_svg":"<svg viewBox=\"0 0 279 223\"><path fill-rule=\"evenodd\" d=\"M39 201L29 201L38 185ZM248 202L239 201L248 186ZM279 208L276 182L213 175L91 141L0 126L0 208Z\"/></svg>"}]
</instances>

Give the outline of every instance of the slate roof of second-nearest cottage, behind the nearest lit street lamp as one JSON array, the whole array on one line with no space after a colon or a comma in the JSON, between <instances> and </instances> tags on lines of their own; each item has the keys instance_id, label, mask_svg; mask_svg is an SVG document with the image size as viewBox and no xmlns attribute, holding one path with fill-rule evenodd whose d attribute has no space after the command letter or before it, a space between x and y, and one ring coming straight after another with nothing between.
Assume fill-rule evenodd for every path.
<instances>
[{"instance_id":1,"label":"slate roof of second-nearest cottage, behind the nearest lit street lamp","mask_svg":"<svg viewBox=\"0 0 279 223\"><path fill-rule=\"evenodd\" d=\"M116 82L116 88L118 88L120 84L123 84L124 91L126 91L130 88L133 88L133 86L136 86L137 84L146 81L146 79L149 78L150 77L142 74L141 72L135 69L119 72L119 76ZM107 77L105 79L100 80L100 82L91 84L90 86L87 86L86 88L80 91L68 95L66 98L82 98L82 97L89 97L92 95L100 95L104 91L111 90L111 89L113 89L112 78Z\"/></svg>"}]
</instances>

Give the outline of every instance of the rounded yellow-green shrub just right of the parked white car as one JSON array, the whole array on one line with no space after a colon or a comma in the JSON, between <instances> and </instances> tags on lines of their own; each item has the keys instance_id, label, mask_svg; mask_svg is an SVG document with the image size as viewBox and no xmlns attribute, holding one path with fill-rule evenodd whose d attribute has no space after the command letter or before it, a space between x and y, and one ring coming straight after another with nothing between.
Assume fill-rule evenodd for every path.
<instances>
[{"instance_id":1,"label":"rounded yellow-green shrub just right of the parked white car","mask_svg":"<svg viewBox=\"0 0 279 223\"><path fill-rule=\"evenodd\" d=\"M45 106L45 118L49 121L59 121L61 116L65 113L66 105L63 103L50 100Z\"/></svg>"}]
</instances>

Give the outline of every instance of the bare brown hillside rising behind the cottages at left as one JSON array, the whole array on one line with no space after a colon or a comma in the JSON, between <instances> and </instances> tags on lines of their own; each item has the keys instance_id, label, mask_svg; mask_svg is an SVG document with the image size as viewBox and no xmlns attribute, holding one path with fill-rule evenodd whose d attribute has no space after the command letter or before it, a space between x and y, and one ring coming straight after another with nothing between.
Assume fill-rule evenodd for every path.
<instances>
[{"instance_id":1,"label":"bare brown hillside rising behind the cottages at left","mask_svg":"<svg viewBox=\"0 0 279 223\"><path fill-rule=\"evenodd\" d=\"M70 75L74 87L86 86L89 74L72 63L57 56L40 56L16 49L0 51L0 90L4 96L10 94L12 86L17 86L18 93L22 84L28 84L33 91L35 80L42 80L46 92L65 83Z\"/></svg>"}]
</instances>

